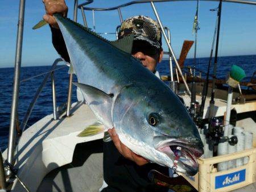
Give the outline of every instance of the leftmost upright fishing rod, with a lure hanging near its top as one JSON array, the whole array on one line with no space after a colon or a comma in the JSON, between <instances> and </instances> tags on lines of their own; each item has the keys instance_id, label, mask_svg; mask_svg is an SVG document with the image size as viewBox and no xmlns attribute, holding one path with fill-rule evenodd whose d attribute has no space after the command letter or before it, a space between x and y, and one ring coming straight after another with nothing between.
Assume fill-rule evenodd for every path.
<instances>
[{"instance_id":1,"label":"leftmost upright fishing rod, with a lure hanging near its top","mask_svg":"<svg viewBox=\"0 0 256 192\"><path fill-rule=\"evenodd\" d=\"M199 0L197 0L196 15L195 15L195 20L194 20L194 24L193 24L193 32L195 31L195 51L194 51L194 65L193 65L193 81L192 81L192 90L191 90L191 106L190 106L190 110L189 110L192 118L195 118L195 114L196 114L196 109L195 109L195 103L196 103L196 48L197 48L197 31L200 30L198 15L199 15Z\"/></svg>"}]
</instances>

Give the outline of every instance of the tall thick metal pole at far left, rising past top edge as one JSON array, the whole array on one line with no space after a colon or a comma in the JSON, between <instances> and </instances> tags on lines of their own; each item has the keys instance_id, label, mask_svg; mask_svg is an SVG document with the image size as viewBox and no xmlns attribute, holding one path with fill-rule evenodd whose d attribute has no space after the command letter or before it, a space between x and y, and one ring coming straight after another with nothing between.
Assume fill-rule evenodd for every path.
<instances>
[{"instance_id":1,"label":"tall thick metal pole at far left, rising past top edge","mask_svg":"<svg viewBox=\"0 0 256 192\"><path fill-rule=\"evenodd\" d=\"M20 81L20 64L22 59L22 40L23 40L23 25L24 25L24 11L25 0L20 0L19 3L19 22L18 33L16 41L16 56L14 66L14 86L13 86L13 101L11 103L11 120L9 131L9 143L7 149L7 161L13 164L14 147L15 147L15 135L16 135L16 121L19 99L19 81Z\"/></svg>"}]
</instances>

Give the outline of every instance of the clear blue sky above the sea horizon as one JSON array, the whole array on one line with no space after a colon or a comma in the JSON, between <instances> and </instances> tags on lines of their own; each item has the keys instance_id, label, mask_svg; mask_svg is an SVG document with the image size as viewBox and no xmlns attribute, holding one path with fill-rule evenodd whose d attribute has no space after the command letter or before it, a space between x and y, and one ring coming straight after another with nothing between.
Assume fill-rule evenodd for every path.
<instances>
[{"instance_id":1,"label":"clear blue sky above the sea horizon","mask_svg":"<svg viewBox=\"0 0 256 192\"><path fill-rule=\"evenodd\" d=\"M66 1L69 7L68 17L73 18L73 1ZM80 3L82 1L79 1ZM118 2L118 3L117 3ZM110 7L125 2L95 0L89 7ZM164 26L171 30L172 47L179 57L184 40L193 40L193 19L196 12L196 1L155 3ZM200 2L200 30L198 35L198 57L208 57L212 44L217 12L209 11L218 6L218 2ZM0 67L14 66L16 32L18 23L19 1L0 1ZM51 32L48 26L39 30L32 27L42 19L44 6L40 0L27 0L22 49L22 66L51 65L58 57L51 43ZM92 12L86 11L89 27L93 28ZM123 18L134 15L147 15L155 19L150 4L139 4L122 9ZM118 12L96 11L96 32L114 32L120 24ZM256 54L256 6L237 3L223 3L220 35L220 56L255 55ZM82 23L79 10L78 22ZM104 35L114 40L114 35ZM163 45L167 51L166 44ZM188 57L193 56L193 48Z\"/></svg>"}]
</instances>

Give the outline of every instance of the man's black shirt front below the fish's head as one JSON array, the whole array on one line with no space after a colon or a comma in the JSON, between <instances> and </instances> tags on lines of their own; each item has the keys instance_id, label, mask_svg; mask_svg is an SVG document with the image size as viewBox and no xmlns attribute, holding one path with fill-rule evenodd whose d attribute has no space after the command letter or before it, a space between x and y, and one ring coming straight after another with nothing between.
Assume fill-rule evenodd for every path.
<instances>
[{"instance_id":1,"label":"man's black shirt front below the fish's head","mask_svg":"<svg viewBox=\"0 0 256 192\"><path fill-rule=\"evenodd\" d=\"M168 188L155 185L147 177L152 169L168 176L168 168L152 163L139 166L123 157L115 148L113 141L104 142L103 152L104 180L108 187L102 191L168 191Z\"/></svg>"}]
</instances>

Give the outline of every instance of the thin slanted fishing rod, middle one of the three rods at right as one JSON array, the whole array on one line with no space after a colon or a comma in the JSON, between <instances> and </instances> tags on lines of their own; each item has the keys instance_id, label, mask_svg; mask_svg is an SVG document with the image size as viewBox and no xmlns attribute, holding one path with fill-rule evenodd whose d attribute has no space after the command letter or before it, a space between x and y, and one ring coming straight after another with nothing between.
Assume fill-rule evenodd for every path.
<instances>
[{"instance_id":1,"label":"thin slanted fishing rod, middle one of the three rods at right","mask_svg":"<svg viewBox=\"0 0 256 192\"><path fill-rule=\"evenodd\" d=\"M218 10L218 7L216 9L211 9L210 11L216 11L216 10ZM209 86L210 65L212 64L212 55L213 55L214 43L215 43L216 34L217 34L217 27L218 27L218 14L217 14L216 24L215 24L215 28L214 28L212 48L210 49L210 59L208 62L207 76L206 76L206 80L204 82L204 87L203 87L203 92L202 92L202 101L201 101L201 106L200 106L200 110L199 110L199 116L197 118L197 119L200 119L199 123L201 123L201 119L203 119L203 115L204 115L205 99L207 97L208 86Z\"/></svg>"}]
</instances>

